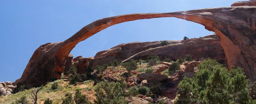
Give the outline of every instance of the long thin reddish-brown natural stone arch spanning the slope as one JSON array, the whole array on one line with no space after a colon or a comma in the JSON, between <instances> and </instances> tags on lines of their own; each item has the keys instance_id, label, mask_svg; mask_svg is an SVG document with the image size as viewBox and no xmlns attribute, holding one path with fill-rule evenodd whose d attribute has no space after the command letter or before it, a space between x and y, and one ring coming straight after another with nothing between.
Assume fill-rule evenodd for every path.
<instances>
[{"instance_id":1,"label":"long thin reddish-brown natural stone arch spanning the slope","mask_svg":"<svg viewBox=\"0 0 256 104\"><path fill-rule=\"evenodd\" d=\"M47 43L37 48L29 60L22 77L15 83L22 82L28 87L44 84L52 78L60 78L65 66L65 59L77 43L109 26L140 19L176 17L202 24L220 38L225 50L228 67L241 66L248 78L255 80L256 75L256 7L212 8L172 13L141 13L120 15L96 20L65 41Z\"/></svg>"}]
</instances>

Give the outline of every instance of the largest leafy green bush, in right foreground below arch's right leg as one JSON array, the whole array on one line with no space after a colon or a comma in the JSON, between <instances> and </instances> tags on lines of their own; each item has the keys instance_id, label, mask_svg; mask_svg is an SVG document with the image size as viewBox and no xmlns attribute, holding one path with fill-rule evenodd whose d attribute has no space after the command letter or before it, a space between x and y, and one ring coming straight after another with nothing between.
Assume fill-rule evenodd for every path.
<instances>
[{"instance_id":1,"label":"largest leafy green bush, in right foreground below arch's right leg","mask_svg":"<svg viewBox=\"0 0 256 104\"><path fill-rule=\"evenodd\" d=\"M178 85L175 103L249 103L248 82L242 68L227 68L212 59L200 63L193 78Z\"/></svg>"}]
</instances>

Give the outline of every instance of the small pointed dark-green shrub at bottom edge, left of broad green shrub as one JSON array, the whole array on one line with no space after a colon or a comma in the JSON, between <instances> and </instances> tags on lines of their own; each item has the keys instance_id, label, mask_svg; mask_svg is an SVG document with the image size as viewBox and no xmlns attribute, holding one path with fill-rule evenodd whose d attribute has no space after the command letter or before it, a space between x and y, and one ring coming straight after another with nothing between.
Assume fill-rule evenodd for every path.
<instances>
[{"instance_id":1,"label":"small pointed dark-green shrub at bottom edge, left of broad green shrub","mask_svg":"<svg viewBox=\"0 0 256 104\"><path fill-rule=\"evenodd\" d=\"M77 104L90 104L92 103L85 94L82 94L80 90L76 90L74 100Z\"/></svg>"}]
</instances>

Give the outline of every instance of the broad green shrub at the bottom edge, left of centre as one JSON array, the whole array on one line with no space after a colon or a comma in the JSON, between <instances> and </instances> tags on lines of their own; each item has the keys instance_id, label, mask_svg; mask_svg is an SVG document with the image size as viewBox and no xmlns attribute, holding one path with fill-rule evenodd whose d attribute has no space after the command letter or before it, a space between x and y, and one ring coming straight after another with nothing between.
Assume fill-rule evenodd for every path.
<instances>
[{"instance_id":1,"label":"broad green shrub at the bottom edge, left of centre","mask_svg":"<svg viewBox=\"0 0 256 104\"><path fill-rule=\"evenodd\" d=\"M95 85L95 103L127 103L125 96L127 93L127 84L124 79L118 82L108 82L106 80Z\"/></svg>"}]
</instances>

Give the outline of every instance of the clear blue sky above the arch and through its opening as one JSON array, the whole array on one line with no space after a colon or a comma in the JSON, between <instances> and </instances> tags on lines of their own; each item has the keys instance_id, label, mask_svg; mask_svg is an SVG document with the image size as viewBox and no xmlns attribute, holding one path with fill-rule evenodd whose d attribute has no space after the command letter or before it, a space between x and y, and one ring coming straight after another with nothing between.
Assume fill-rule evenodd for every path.
<instances>
[{"instance_id":1,"label":"clear blue sky above the arch and through its opening","mask_svg":"<svg viewBox=\"0 0 256 104\"><path fill-rule=\"evenodd\" d=\"M63 41L91 22L129 13L162 13L227 7L238 0L26 0L0 1L0 82L20 78L40 45ZM182 40L213 34L175 18L136 20L109 27L80 42L74 57L134 41Z\"/></svg>"}]
</instances>

